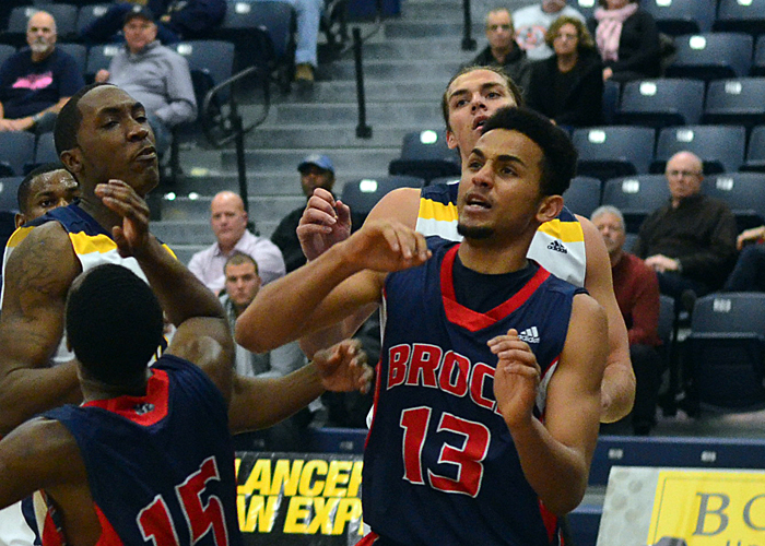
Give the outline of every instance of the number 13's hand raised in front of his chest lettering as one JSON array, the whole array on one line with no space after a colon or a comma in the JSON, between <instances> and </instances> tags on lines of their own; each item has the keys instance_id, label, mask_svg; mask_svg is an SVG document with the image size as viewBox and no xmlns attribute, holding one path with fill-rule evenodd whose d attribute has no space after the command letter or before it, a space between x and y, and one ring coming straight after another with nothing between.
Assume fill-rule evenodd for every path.
<instances>
[{"instance_id":1,"label":"number 13's hand raised in front of his chest lettering","mask_svg":"<svg viewBox=\"0 0 765 546\"><path fill-rule=\"evenodd\" d=\"M494 396L497 407L511 429L527 425L533 415L541 369L537 357L514 329L506 335L489 340L487 345L498 357L494 373Z\"/></svg>"}]
</instances>

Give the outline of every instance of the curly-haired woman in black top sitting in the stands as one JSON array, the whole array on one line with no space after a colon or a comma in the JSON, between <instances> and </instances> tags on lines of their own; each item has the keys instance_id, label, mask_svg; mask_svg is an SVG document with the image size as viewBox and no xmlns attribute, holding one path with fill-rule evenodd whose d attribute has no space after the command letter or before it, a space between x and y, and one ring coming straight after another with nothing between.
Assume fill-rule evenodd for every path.
<instances>
[{"instance_id":1,"label":"curly-haired woman in black top sitting in the stands","mask_svg":"<svg viewBox=\"0 0 765 546\"><path fill-rule=\"evenodd\" d=\"M585 23L566 15L558 17L544 39L555 55L531 66L527 106L558 126L601 123L603 64Z\"/></svg>"}]
</instances>

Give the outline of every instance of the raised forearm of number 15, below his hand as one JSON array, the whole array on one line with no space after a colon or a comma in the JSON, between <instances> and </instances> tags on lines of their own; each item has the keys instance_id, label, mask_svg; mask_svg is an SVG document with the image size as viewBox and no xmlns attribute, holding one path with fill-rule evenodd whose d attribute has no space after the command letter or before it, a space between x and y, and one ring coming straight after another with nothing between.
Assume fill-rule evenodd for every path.
<instances>
[{"instance_id":1,"label":"raised forearm of number 15, below his hand","mask_svg":"<svg viewBox=\"0 0 765 546\"><path fill-rule=\"evenodd\" d=\"M136 256L173 324L192 317L224 318L220 300L154 238Z\"/></svg>"}]
</instances>

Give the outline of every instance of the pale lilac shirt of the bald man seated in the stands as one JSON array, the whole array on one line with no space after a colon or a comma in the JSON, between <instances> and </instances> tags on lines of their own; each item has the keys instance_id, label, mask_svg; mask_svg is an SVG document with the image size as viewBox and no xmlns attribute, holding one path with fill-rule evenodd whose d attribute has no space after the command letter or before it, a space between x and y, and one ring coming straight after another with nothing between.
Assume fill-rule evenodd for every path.
<instances>
[{"instance_id":1,"label":"pale lilac shirt of the bald man seated in the stands","mask_svg":"<svg viewBox=\"0 0 765 546\"><path fill-rule=\"evenodd\" d=\"M208 288L214 293L219 293L223 289L225 284L223 266L235 251L244 252L252 257L258 264L258 274L263 284L268 284L280 276L284 276L286 271L284 268L284 258L282 258L282 251L279 250L279 247L269 239L256 237L249 232L245 232L245 235L236 241L234 250L228 254L224 254L221 251L217 242L214 242L204 250L200 250L189 260L189 270L197 278L204 283Z\"/></svg>"}]
</instances>

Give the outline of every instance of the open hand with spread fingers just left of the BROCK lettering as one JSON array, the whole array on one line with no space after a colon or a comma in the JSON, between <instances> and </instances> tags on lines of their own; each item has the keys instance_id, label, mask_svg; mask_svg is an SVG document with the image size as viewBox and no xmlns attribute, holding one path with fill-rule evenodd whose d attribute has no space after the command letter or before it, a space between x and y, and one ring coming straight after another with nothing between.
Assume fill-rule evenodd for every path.
<instances>
[{"instance_id":1,"label":"open hand with spread fingers just left of the BROCK lettering","mask_svg":"<svg viewBox=\"0 0 765 546\"><path fill-rule=\"evenodd\" d=\"M372 384L373 370L366 364L366 353L358 340L343 340L314 354L314 366L328 391L358 391L366 393Z\"/></svg>"}]
</instances>

